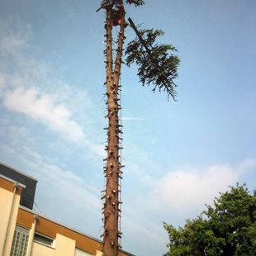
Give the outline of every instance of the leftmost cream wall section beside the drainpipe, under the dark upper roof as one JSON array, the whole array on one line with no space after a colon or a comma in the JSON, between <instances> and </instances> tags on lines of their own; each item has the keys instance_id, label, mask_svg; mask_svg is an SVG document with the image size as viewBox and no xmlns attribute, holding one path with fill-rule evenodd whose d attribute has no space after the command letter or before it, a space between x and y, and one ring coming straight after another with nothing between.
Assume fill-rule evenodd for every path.
<instances>
[{"instance_id":1,"label":"leftmost cream wall section beside the drainpipe, under the dark upper roof","mask_svg":"<svg viewBox=\"0 0 256 256\"><path fill-rule=\"evenodd\" d=\"M14 185L11 182L1 179L0 187L0 253L3 253L3 247L6 240L6 249L3 256L9 256L12 248L12 238L17 220L17 212L20 203L21 187L17 187L17 193L13 201ZM3 188L2 188L3 187ZM13 201L13 207L12 207ZM11 213L12 211L12 213ZM7 225L10 218L9 230L7 232ZM7 237L7 239L6 239Z\"/></svg>"}]
</instances>

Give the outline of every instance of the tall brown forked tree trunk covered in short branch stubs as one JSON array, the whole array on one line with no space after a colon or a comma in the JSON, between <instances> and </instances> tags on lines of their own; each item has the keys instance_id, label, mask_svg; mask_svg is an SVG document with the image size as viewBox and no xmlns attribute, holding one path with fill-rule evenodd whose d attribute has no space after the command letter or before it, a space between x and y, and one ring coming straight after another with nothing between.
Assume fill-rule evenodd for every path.
<instances>
[{"instance_id":1,"label":"tall brown forked tree trunk covered in short branch stubs","mask_svg":"<svg viewBox=\"0 0 256 256\"><path fill-rule=\"evenodd\" d=\"M122 2L122 1L121 1ZM119 201L119 179L121 177L121 159L120 159L120 132L121 126L119 123L118 111L121 108L119 101L119 78L121 74L121 56L123 50L123 42L125 39L124 20L125 12L122 12L121 26L118 42L116 48L116 59L113 63L113 49L112 49L112 21L111 12L112 7L106 8L106 69L107 69L107 164L104 167L104 173L107 178L106 192L103 197L105 200L103 206L103 255L117 256L119 250L119 238L121 231L119 230L119 215L120 215L120 201Z\"/></svg>"}]
</instances>

